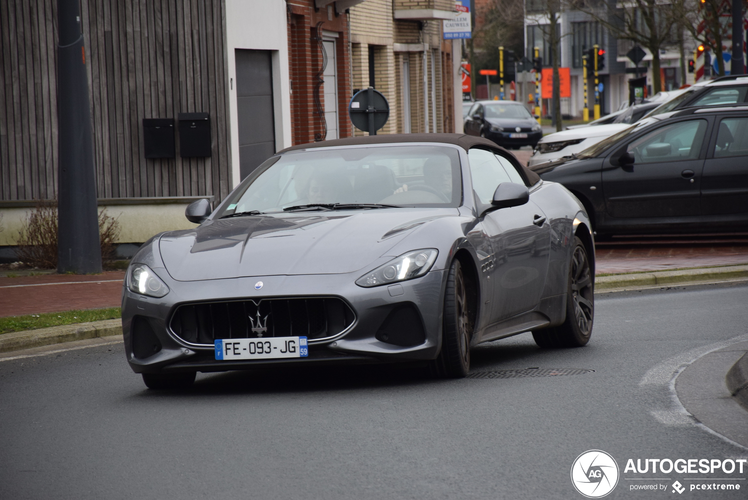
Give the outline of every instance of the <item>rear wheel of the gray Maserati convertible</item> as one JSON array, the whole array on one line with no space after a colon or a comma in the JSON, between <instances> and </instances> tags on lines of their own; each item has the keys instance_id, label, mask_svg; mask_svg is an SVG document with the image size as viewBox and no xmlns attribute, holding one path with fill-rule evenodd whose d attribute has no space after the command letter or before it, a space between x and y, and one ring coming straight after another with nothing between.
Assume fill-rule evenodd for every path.
<instances>
[{"instance_id":1,"label":"rear wheel of the gray Maserati convertible","mask_svg":"<svg viewBox=\"0 0 748 500\"><path fill-rule=\"evenodd\" d=\"M592 320L595 318L593 286L587 251L575 236L569 263L566 319L558 327L533 332L537 345L542 348L575 348L589 342Z\"/></svg>"}]
</instances>

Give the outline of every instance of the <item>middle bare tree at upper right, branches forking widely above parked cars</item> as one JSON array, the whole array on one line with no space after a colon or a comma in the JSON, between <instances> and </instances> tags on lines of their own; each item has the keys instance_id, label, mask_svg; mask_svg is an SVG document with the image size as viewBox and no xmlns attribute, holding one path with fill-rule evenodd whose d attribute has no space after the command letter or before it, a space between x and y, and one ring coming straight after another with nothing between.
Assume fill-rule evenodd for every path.
<instances>
[{"instance_id":1,"label":"middle bare tree at upper right, branches forking widely above parked cars","mask_svg":"<svg viewBox=\"0 0 748 500\"><path fill-rule=\"evenodd\" d=\"M683 22L686 0L570 0L613 37L631 40L652 53L652 90L662 90L660 49L672 44L672 30ZM706 0L712 1L712 0Z\"/></svg>"}]
</instances>

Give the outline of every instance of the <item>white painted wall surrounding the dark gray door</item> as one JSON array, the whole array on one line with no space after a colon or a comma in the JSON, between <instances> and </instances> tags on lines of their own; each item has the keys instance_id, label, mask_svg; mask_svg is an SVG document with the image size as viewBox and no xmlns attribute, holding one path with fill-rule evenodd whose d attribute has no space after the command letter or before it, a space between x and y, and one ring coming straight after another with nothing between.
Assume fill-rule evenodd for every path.
<instances>
[{"instance_id":1,"label":"white painted wall surrounding the dark gray door","mask_svg":"<svg viewBox=\"0 0 748 500\"><path fill-rule=\"evenodd\" d=\"M236 111L234 49L272 52L275 149L291 146L291 101L285 1L226 1L226 57L229 71L229 120L232 187L239 184L239 121ZM232 83L233 82L233 83Z\"/></svg>"}]
</instances>

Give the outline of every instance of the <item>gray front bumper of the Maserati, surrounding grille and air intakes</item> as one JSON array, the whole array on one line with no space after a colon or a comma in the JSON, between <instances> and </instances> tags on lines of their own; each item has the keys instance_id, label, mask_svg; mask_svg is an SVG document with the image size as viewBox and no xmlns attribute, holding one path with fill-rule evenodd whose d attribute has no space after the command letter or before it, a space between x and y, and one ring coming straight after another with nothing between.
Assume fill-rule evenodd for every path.
<instances>
[{"instance_id":1,"label":"gray front bumper of the Maserati, surrounding grille and air intakes","mask_svg":"<svg viewBox=\"0 0 748 500\"><path fill-rule=\"evenodd\" d=\"M396 286L362 288L354 281L363 274L243 277L227 280L180 282L164 268L153 271L168 285L162 298L145 297L123 288L122 326L127 361L135 373L174 371L228 371L268 366L410 362L434 359L441 345L441 314L445 271L430 271ZM262 281L261 290L254 288ZM394 287L394 288L390 288ZM310 339L307 358L217 361L210 345L194 345L180 339L168 326L178 306L216 300L271 297L340 297L355 313L355 321L340 336L324 341ZM425 342L401 347L376 338L384 320L399 306L414 307L423 323ZM147 357L133 352L135 321L147 321L160 349ZM137 351L137 350L136 350ZM142 352L142 351L141 351Z\"/></svg>"}]
</instances>

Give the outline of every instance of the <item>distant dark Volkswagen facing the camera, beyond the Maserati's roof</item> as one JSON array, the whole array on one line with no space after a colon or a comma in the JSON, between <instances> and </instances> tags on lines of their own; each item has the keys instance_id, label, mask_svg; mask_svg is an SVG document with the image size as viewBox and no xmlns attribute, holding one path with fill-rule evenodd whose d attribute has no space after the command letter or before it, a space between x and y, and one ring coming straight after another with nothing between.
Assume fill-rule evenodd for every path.
<instances>
[{"instance_id":1,"label":"distant dark Volkswagen facing the camera, beyond the Maserati's roof","mask_svg":"<svg viewBox=\"0 0 748 500\"><path fill-rule=\"evenodd\" d=\"M521 102L477 101L465 118L465 134L490 139L499 146L519 149L537 145L542 129Z\"/></svg>"}]
</instances>

